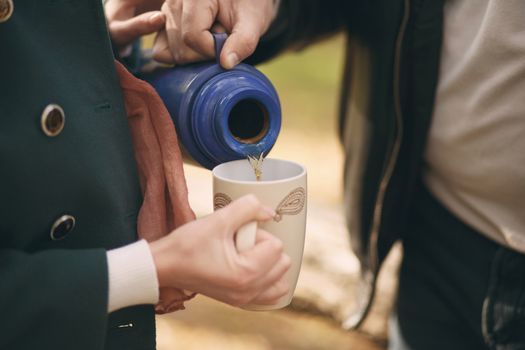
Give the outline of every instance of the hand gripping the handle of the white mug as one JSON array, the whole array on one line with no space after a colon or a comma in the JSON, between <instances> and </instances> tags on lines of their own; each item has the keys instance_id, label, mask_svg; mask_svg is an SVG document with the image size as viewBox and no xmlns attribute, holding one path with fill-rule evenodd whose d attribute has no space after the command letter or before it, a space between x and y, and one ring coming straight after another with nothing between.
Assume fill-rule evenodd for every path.
<instances>
[{"instance_id":1,"label":"hand gripping the handle of the white mug","mask_svg":"<svg viewBox=\"0 0 525 350\"><path fill-rule=\"evenodd\" d=\"M252 248L238 252L234 244L241 226L271 220L274 214L254 196L244 196L150 243L160 287L190 290L235 306L275 303L289 290L284 274L290 258L281 241L258 229Z\"/></svg>"}]
</instances>

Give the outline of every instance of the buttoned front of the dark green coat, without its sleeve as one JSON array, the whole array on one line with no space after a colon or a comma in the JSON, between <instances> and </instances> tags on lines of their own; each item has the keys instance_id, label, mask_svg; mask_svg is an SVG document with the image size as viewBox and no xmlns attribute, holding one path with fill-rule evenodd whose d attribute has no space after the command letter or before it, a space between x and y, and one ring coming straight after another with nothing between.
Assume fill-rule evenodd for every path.
<instances>
[{"instance_id":1,"label":"buttoned front of the dark green coat, without its sleeve","mask_svg":"<svg viewBox=\"0 0 525 350\"><path fill-rule=\"evenodd\" d=\"M141 192L100 0L14 1L0 23L0 121L0 248L136 240ZM151 331L152 316L129 308L108 327L142 317Z\"/></svg>"}]
</instances>

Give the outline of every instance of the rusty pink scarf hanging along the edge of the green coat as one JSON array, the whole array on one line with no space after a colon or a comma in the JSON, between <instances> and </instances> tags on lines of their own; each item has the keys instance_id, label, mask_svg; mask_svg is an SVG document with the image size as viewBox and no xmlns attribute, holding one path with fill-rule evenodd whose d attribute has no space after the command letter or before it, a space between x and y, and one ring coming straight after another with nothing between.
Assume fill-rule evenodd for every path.
<instances>
[{"instance_id":1,"label":"rusty pink scarf hanging along the edge of the green coat","mask_svg":"<svg viewBox=\"0 0 525 350\"><path fill-rule=\"evenodd\" d=\"M195 219L173 121L151 85L115 61L133 141L144 201L139 211L139 238L155 241ZM195 293L161 288L159 314L184 309Z\"/></svg>"}]
</instances>

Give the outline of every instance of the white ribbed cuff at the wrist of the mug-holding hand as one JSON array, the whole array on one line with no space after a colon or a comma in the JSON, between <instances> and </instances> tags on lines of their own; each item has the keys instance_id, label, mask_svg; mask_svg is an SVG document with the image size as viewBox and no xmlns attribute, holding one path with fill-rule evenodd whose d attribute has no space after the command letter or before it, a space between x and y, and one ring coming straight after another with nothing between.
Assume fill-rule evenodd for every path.
<instances>
[{"instance_id":1,"label":"white ribbed cuff at the wrist of the mug-holding hand","mask_svg":"<svg viewBox=\"0 0 525 350\"><path fill-rule=\"evenodd\" d=\"M109 250L107 259L108 312L159 301L157 269L145 240Z\"/></svg>"}]
</instances>

